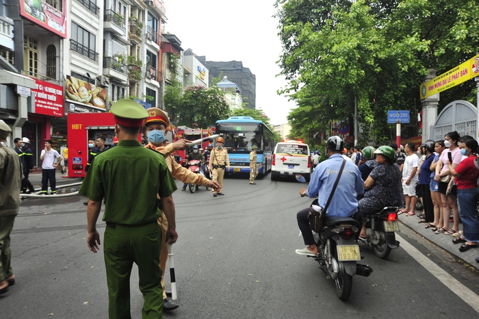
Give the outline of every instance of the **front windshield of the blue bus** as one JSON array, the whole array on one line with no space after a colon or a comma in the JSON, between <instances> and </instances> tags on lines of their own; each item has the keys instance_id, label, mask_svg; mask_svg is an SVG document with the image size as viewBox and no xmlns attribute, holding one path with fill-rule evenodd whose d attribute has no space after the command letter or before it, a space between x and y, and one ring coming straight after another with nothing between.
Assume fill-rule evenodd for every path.
<instances>
[{"instance_id":1,"label":"front windshield of the blue bus","mask_svg":"<svg viewBox=\"0 0 479 319\"><path fill-rule=\"evenodd\" d=\"M216 133L222 134L224 147L229 151L251 151L251 146L263 150L263 127L259 123L228 123L216 126Z\"/></svg>"}]
</instances>

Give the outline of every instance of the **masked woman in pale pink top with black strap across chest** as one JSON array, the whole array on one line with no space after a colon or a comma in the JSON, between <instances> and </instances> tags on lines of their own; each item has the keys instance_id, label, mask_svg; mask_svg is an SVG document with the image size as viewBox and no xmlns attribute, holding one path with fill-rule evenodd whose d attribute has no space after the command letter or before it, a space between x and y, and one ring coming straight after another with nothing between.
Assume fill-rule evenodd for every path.
<instances>
[{"instance_id":1,"label":"masked woman in pale pink top with black strap across chest","mask_svg":"<svg viewBox=\"0 0 479 319\"><path fill-rule=\"evenodd\" d=\"M457 233L459 230L459 210L457 206L457 194L455 188L453 188L449 193L448 184L451 179L450 167L456 169L456 167L461 163L461 150L459 149L457 142L461 136L457 131L449 132L445 134L444 145L446 148L439 157L439 162L436 165L436 175L434 177L435 181L439 182L439 193L441 193L441 204L443 207L443 227L437 229L436 233L446 233L452 235ZM448 162L451 164L449 165ZM452 228L449 227L449 218L450 212L452 209L452 216L454 225Z\"/></svg>"}]
</instances>

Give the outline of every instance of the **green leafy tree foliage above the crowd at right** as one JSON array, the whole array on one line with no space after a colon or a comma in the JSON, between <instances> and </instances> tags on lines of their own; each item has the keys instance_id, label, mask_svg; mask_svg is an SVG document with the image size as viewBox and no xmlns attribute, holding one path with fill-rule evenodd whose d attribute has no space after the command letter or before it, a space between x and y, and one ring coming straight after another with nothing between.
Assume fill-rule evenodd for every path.
<instances>
[{"instance_id":1,"label":"green leafy tree foliage above the crowd at right","mask_svg":"<svg viewBox=\"0 0 479 319\"><path fill-rule=\"evenodd\" d=\"M436 68L438 75L448 71L474 56L479 44L474 0L276 0L275 5L283 44L278 63L289 81L280 93L298 104L288 119L294 137L305 140L333 120L352 124L354 99L365 140L389 140L387 110L415 114L428 69ZM445 91L441 103L474 99L473 87L474 81L467 81Z\"/></svg>"}]
</instances>

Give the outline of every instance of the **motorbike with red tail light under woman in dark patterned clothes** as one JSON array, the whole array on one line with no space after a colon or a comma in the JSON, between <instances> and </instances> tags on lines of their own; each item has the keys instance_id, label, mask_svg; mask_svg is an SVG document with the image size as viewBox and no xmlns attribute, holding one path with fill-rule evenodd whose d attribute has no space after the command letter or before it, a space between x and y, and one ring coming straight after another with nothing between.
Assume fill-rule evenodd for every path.
<instances>
[{"instance_id":1,"label":"motorbike with red tail light under woman in dark patterned clothes","mask_svg":"<svg viewBox=\"0 0 479 319\"><path fill-rule=\"evenodd\" d=\"M364 216L367 238L359 238L367 246L372 246L374 255L385 259L392 248L398 248L395 231L399 231L399 207L388 206L378 212Z\"/></svg>"}]
</instances>

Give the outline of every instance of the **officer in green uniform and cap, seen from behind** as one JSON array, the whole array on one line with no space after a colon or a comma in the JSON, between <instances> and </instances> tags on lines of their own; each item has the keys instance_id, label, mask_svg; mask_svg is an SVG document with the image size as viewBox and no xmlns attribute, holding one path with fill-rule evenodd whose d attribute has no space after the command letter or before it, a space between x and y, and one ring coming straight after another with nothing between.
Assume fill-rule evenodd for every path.
<instances>
[{"instance_id":1,"label":"officer in green uniform and cap, seen from behind","mask_svg":"<svg viewBox=\"0 0 479 319\"><path fill-rule=\"evenodd\" d=\"M107 272L109 318L131 318L130 273L133 262L138 265L140 291L144 304L142 318L161 318L163 293L159 252L161 230L157 218L157 195L161 198L168 219L166 240L177 241L172 192L176 184L163 155L142 147L138 134L148 112L139 103L121 99L112 106L118 145L95 157L86 175L80 194L88 197L87 245L99 250L100 235L96 231L101 201L105 198L103 221L103 255ZM148 176L148 179L145 177ZM134 199L134 200L133 200Z\"/></svg>"}]
</instances>

